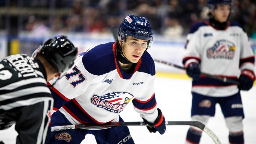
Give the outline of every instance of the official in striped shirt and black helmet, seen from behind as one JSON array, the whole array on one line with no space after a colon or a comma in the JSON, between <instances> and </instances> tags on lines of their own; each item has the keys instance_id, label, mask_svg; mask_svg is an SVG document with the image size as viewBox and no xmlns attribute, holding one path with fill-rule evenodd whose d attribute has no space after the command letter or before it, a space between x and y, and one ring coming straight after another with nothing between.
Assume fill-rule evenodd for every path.
<instances>
[{"instance_id":1,"label":"official in striped shirt and black helmet, seen from behind","mask_svg":"<svg viewBox=\"0 0 256 144\"><path fill-rule=\"evenodd\" d=\"M16 123L17 144L45 142L53 98L46 81L73 64L77 48L66 36L47 40L33 57L8 56L0 62L0 130Z\"/></svg>"}]
</instances>

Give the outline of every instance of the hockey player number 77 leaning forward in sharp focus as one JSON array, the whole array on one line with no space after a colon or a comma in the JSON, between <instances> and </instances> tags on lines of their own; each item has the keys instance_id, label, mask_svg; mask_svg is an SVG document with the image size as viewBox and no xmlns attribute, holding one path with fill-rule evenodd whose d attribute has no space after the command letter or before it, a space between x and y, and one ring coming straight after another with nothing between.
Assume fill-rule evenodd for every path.
<instances>
[{"instance_id":1,"label":"hockey player number 77 leaning forward in sharp focus","mask_svg":"<svg viewBox=\"0 0 256 144\"><path fill-rule=\"evenodd\" d=\"M152 126L149 131L163 134L165 119L154 93L155 65L146 52L152 41L149 21L129 15L120 25L117 42L79 54L52 88L57 112L51 126L123 121L119 113L132 101L135 111ZM49 143L80 144L86 134L93 134L98 144L134 143L127 126L51 132Z\"/></svg>"}]
</instances>

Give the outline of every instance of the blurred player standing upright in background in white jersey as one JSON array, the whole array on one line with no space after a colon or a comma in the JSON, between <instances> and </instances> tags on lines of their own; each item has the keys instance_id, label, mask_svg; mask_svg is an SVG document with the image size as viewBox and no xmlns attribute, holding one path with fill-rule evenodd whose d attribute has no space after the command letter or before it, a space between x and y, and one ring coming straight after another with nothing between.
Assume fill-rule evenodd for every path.
<instances>
[{"instance_id":1,"label":"blurred player standing upright in background in white jersey","mask_svg":"<svg viewBox=\"0 0 256 144\"><path fill-rule=\"evenodd\" d=\"M208 0L209 19L195 24L187 36L183 64L193 78L191 118L207 124L220 104L229 129L229 142L243 144L243 105L240 90L249 90L255 81L253 55L247 34L229 22L232 0ZM228 84L200 75L201 72L238 79ZM202 131L190 127L186 143L198 144Z\"/></svg>"}]
</instances>

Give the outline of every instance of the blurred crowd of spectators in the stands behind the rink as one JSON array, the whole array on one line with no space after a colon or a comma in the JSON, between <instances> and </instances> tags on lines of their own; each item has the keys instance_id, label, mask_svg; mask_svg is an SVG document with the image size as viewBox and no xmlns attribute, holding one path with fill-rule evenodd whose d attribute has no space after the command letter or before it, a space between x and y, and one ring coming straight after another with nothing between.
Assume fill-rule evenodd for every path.
<instances>
[{"instance_id":1,"label":"blurred crowd of spectators in the stands behind the rink","mask_svg":"<svg viewBox=\"0 0 256 144\"><path fill-rule=\"evenodd\" d=\"M49 31L109 33L112 27L119 27L124 16L135 14L144 16L150 21L154 34L180 37L186 35L194 23L207 19L208 14L207 0L21 1L23 8L49 10L49 15L36 13L22 15L22 30L36 33ZM5 5L4 2L0 3L0 7ZM13 5L11 3L10 7ZM3 16L1 20L4 20ZM248 36L256 38L254 0L233 0L229 20L238 21L244 26ZM0 27L4 28L3 25L0 24Z\"/></svg>"}]
</instances>

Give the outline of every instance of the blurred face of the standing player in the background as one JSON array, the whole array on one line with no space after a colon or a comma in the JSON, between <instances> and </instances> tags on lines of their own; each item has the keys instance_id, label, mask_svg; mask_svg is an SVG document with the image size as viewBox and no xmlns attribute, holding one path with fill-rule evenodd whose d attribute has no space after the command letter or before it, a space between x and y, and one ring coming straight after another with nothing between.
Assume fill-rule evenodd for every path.
<instances>
[{"instance_id":1,"label":"blurred face of the standing player in the background","mask_svg":"<svg viewBox=\"0 0 256 144\"><path fill-rule=\"evenodd\" d=\"M228 20L228 16L230 13L230 5L229 4L218 4L217 8L213 12L215 20L219 22L226 22Z\"/></svg>"}]
</instances>

